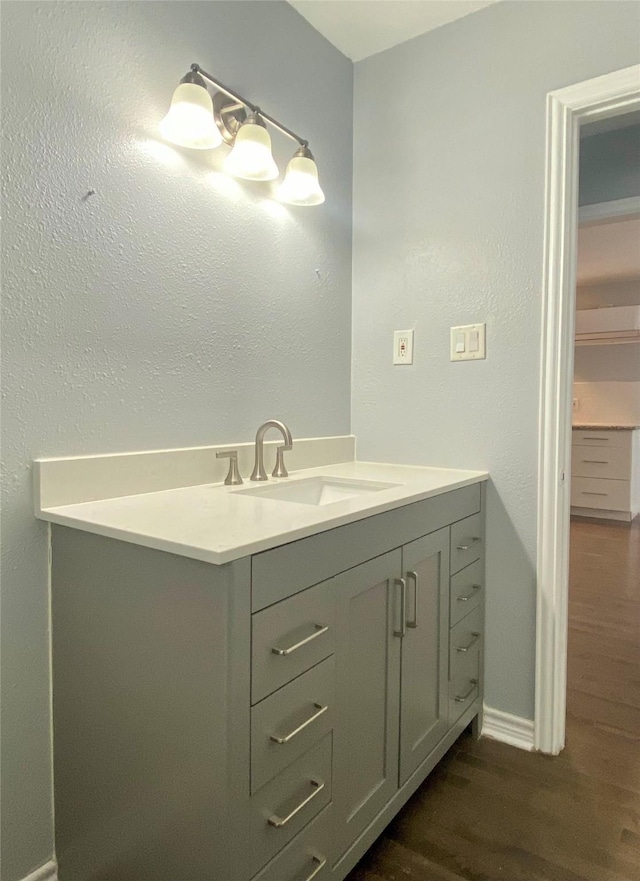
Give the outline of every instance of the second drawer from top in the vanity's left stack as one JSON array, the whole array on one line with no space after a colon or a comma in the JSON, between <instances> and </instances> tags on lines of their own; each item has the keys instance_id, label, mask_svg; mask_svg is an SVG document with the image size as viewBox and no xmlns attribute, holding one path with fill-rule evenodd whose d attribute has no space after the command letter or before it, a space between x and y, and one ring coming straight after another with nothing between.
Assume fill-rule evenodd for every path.
<instances>
[{"instance_id":1,"label":"second drawer from top in the vanity's left stack","mask_svg":"<svg viewBox=\"0 0 640 881\"><path fill-rule=\"evenodd\" d=\"M335 664L327 658L251 710L251 791L333 728Z\"/></svg>"}]
</instances>

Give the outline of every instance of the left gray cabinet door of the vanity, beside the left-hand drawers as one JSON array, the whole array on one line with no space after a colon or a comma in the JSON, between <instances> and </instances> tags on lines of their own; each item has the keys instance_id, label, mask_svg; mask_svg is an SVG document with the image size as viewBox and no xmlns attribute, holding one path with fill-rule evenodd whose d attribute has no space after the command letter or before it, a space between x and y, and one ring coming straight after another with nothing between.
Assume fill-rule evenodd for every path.
<instances>
[{"instance_id":1,"label":"left gray cabinet door of the vanity, beside the left-hand drawers","mask_svg":"<svg viewBox=\"0 0 640 881\"><path fill-rule=\"evenodd\" d=\"M336 576L336 857L398 788L400 583L391 551Z\"/></svg>"}]
</instances>

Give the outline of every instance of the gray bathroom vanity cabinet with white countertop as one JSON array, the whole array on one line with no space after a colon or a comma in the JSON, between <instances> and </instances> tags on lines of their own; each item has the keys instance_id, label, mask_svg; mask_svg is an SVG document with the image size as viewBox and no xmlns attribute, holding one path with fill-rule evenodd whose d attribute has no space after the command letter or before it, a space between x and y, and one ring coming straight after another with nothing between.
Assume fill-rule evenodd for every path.
<instances>
[{"instance_id":1,"label":"gray bathroom vanity cabinet with white countertop","mask_svg":"<svg viewBox=\"0 0 640 881\"><path fill-rule=\"evenodd\" d=\"M487 475L320 470L395 488L314 511L230 487L40 511L60 881L340 881L479 724ZM243 510L235 549L145 532L154 503L187 529L189 491L221 534Z\"/></svg>"}]
</instances>

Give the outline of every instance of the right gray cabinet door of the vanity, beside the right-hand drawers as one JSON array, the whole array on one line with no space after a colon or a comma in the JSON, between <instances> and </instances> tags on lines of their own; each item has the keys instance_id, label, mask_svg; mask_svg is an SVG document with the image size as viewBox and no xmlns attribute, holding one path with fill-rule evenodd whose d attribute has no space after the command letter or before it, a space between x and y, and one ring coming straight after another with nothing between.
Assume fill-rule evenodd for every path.
<instances>
[{"instance_id":1,"label":"right gray cabinet door of the vanity, beside the right-hand drawers","mask_svg":"<svg viewBox=\"0 0 640 881\"><path fill-rule=\"evenodd\" d=\"M449 529L402 549L406 619L400 687L400 785L447 731Z\"/></svg>"}]
</instances>

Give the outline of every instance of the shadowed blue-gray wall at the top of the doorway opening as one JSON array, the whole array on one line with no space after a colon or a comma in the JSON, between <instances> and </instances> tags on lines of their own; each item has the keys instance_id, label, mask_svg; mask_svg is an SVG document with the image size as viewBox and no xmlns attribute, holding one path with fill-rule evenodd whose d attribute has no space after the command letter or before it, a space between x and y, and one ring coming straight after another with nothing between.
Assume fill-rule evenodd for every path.
<instances>
[{"instance_id":1,"label":"shadowed blue-gray wall at the top of the doorway opening","mask_svg":"<svg viewBox=\"0 0 640 881\"><path fill-rule=\"evenodd\" d=\"M640 196L640 125L583 138L580 204L593 205L630 196Z\"/></svg>"}]
</instances>

